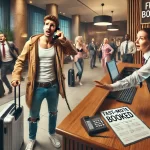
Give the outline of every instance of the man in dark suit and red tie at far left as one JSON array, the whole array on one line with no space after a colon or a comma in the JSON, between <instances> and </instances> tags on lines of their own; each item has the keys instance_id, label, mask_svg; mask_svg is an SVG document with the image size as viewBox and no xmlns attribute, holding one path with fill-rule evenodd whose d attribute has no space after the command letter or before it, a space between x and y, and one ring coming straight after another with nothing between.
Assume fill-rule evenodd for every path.
<instances>
[{"instance_id":1,"label":"man in dark suit and red tie at far left","mask_svg":"<svg viewBox=\"0 0 150 150\"><path fill-rule=\"evenodd\" d=\"M8 94L12 93L12 86L7 79L7 72L12 72L14 64L19 55L18 48L13 42L7 41L7 37L4 33L0 33L0 68L1 79L8 88Z\"/></svg>"}]
</instances>

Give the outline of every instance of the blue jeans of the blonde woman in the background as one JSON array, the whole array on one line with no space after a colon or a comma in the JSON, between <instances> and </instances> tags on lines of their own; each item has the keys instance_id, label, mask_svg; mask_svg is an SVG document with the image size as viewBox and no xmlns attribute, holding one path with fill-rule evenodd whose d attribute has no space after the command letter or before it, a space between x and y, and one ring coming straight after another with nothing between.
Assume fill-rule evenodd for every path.
<instances>
[{"instance_id":1,"label":"blue jeans of the blonde woman in the background","mask_svg":"<svg viewBox=\"0 0 150 150\"><path fill-rule=\"evenodd\" d=\"M78 73L76 74L76 76L79 77L79 81L80 81L81 78L82 78L83 66L84 66L83 58L78 58L78 61L75 62L75 65L76 65L76 67L78 69Z\"/></svg>"}]
</instances>

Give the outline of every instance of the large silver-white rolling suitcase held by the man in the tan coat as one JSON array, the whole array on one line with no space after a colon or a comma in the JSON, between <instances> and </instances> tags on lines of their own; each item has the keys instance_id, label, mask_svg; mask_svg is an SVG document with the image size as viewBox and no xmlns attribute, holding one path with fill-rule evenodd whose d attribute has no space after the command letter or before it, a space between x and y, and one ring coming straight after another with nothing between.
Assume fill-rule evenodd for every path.
<instances>
[{"instance_id":1,"label":"large silver-white rolling suitcase held by the man in the tan coat","mask_svg":"<svg viewBox=\"0 0 150 150\"><path fill-rule=\"evenodd\" d=\"M23 107L16 104L16 87L14 88L15 102L0 112L0 150L20 150L23 144Z\"/></svg>"}]
</instances>

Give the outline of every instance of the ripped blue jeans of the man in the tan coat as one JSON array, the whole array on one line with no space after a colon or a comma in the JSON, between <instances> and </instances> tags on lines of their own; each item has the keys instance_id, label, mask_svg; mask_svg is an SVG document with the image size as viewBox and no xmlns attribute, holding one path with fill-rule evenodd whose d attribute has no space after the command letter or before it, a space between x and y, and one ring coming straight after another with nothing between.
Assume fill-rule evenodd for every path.
<instances>
[{"instance_id":1,"label":"ripped blue jeans of the man in the tan coat","mask_svg":"<svg viewBox=\"0 0 150 150\"><path fill-rule=\"evenodd\" d=\"M46 98L49 111L49 134L55 133L56 121L57 121L57 106L59 99L59 87L58 83L49 86L47 88L37 87L34 90L33 102L30 109L29 116L29 139L36 139L37 133L37 121L40 119L40 108L43 99ZM35 121L30 119L34 118Z\"/></svg>"}]
</instances>

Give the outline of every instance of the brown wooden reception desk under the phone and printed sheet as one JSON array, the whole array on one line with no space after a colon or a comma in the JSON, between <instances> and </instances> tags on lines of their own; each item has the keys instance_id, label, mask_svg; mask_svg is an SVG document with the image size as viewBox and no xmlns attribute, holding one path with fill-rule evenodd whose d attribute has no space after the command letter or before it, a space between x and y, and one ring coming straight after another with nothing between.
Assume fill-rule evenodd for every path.
<instances>
[{"instance_id":1,"label":"brown wooden reception desk under the phone and printed sheet","mask_svg":"<svg viewBox=\"0 0 150 150\"><path fill-rule=\"evenodd\" d=\"M119 63L118 69L121 72L125 67L139 68L137 64ZM109 75L101 80L102 83L111 83ZM109 91L93 87L90 93L77 105L74 110L58 125L56 132L63 136L62 150L148 150L150 149L150 138L138 141L129 146L124 146L110 126L105 121L108 131L100 133L103 137L90 137L83 126L83 116L100 115L100 111L127 106L136 114L148 127L150 127L150 94L144 82L142 88L137 87L132 104L125 104L114 99L107 98ZM102 116L101 116L102 117Z\"/></svg>"}]
</instances>

